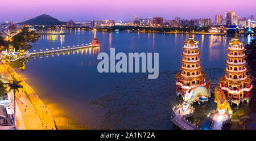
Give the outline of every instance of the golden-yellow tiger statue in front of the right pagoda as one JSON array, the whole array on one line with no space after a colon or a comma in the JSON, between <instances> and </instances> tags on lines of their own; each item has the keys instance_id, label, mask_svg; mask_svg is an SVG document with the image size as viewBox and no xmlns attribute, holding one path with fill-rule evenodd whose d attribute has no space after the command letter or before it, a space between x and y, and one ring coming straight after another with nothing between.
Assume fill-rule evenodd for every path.
<instances>
[{"instance_id":1,"label":"golden-yellow tiger statue in front of the right pagoda","mask_svg":"<svg viewBox=\"0 0 256 141\"><path fill-rule=\"evenodd\" d=\"M214 102L217 103L219 114L224 115L227 109L230 114L233 113L233 110L230 108L229 101L226 99L225 93L220 87L216 87L214 89Z\"/></svg>"}]
</instances>

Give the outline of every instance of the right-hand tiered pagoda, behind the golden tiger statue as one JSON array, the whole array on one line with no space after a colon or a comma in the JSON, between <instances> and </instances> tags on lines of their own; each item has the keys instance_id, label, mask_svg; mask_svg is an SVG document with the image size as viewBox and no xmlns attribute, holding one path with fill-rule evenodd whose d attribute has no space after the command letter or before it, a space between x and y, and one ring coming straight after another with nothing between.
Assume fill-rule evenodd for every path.
<instances>
[{"instance_id":1,"label":"right-hand tiered pagoda, behind the golden tiger statue","mask_svg":"<svg viewBox=\"0 0 256 141\"><path fill-rule=\"evenodd\" d=\"M245 61L245 43L240 42L236 35L232 42L229 42L228 54L226 57L228 60L225 62L227 67L225 68L226 75L220 78L220 87L226 92L227 98L234 104L239 105L241 101L250 101L251 97L251 78L246 74Z\"/></svg>"}]
</instances>

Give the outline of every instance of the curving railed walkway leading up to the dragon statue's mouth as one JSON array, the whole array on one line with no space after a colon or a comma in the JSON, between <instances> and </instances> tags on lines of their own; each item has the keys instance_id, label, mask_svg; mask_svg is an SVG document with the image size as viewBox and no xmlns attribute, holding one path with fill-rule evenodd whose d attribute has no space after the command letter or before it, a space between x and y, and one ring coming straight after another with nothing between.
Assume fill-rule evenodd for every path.
<instances>
[{"instance_id":1,"label":"curving railed walkway leading up to the dragon statue's mouth","mask_svg":"<svg viewBox=\"0 0 256 141\"><path fill-rule=\"evenodd\" d=\"M174 106L172 109L174 114L171 116L171 121L182 130L200 130L199 126L195 126L193 123L185 119L187 117L191 117L195 112L195 109L189 106L187 110L182 112L182 108L183 105Z\"/></svg>"}]
</instances>

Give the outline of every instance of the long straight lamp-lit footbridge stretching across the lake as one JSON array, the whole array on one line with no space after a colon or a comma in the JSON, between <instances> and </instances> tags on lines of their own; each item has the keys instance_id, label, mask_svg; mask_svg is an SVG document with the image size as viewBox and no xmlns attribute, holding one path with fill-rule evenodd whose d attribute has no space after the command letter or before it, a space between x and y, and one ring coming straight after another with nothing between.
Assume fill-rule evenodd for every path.
<instances>
[{"instance_id":1,"label":"long straight lamp-lit footbridge stretching across the lake","mask_svg":"<svg viewBox=\"0 0 256 141\"><path fill-rule=\"evenodd\" d=\"M84 45L84 44L82 44L81 46L77 45L76 47L73 45L72 48L70 46L68 46L67 48L65 48L63 46L62 48L59 47L57 49L52 48L52 50L46 49L46 51L43 51L42 49L40 49L40 52L29 53L29 56L30 57L34 57L34 56L38 56L38 55L47 55L47 54L67 52L67 51L70 51L70 50L77 50L77 49L84 49L84 48L93 48L93 47L97 47L97 46L100 46L100 45L91 45L91 44Z\"/></svg>"}]
</instances>

